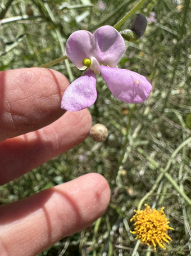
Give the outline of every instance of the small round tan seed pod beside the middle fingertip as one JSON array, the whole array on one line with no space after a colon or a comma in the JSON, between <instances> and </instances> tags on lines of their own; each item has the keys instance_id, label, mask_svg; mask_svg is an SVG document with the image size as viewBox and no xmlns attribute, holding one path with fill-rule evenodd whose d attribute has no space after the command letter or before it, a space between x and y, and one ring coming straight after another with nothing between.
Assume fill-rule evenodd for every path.
<instances>
[{"instance_id":1,"label":"small round tan seed pod beside the middle fingertip","mask_svg":"<svg viewBox=\"0 0 191 256\"><path fill-rule=\"evenodd\" d=\"M95 124L90 129L90 137L96 142L103 142L108 136L107 128L103 124Z\"/></svg>"}]
</instances>

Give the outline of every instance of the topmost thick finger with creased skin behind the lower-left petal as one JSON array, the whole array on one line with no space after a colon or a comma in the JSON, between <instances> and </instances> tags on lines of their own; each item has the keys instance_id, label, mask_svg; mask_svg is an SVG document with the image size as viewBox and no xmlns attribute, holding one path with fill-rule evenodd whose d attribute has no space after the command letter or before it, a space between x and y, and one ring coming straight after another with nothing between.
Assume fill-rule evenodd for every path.
<instances>
[{"instance_id":1,"label":"topmost thick finger with creased skin behind the lower-left petal","mask_svg":"<svg viewBox=\"0 0 191 256\"><path fill-rule=\"evenodd\" d=\"M36 131L65 113L60 107L69 81L43 68L0 72L0 141Z\"/></svg>"}]
</instances>

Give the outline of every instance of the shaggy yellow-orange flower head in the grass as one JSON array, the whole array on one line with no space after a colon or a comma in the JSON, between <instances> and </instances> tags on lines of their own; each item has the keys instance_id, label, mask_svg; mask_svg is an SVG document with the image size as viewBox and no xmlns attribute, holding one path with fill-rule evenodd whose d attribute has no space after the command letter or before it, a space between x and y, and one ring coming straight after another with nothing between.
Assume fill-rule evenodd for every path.
<instances>
[{"instance_id":1,"label":"shaggy yellow-orange flower head in the grass","mask_svg":"<svg viewBox=\"0 0 191 256\"><path fill-rule=\"evenodd\" d=\"M131 232L137 234L136 239L140 239L142 244L154 246L158 244L162 249L166 249L164 242L169 244L171 238L167 235L167 230L174 230L169 227L169 221L166 218L162 207L161 210L151 209L151 207L145 204L144 210L135 210L135 215L130 221L135 221L135 231Z\"/></svg>"}]
</instances>

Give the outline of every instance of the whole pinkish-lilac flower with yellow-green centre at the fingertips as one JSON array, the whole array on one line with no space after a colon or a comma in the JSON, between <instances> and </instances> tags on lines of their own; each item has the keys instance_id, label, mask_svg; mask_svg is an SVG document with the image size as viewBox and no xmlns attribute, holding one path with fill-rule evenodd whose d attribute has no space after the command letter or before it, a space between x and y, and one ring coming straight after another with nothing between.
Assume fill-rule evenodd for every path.
<instances>
[{"instance_id":1,"label":"whole pinkish-lilac flower with yellow-green centre at the fingertips","mask_svg":"<svg viewBox=\"0 0 191 256\"><path fill-rule=\"evenodd\" d=\"M121 34L112 26L102 26L92 34L86 30L72 33L66 42L66 55L85 73L66 89L61 108L79 111L97 98L95 74L102 73L113 96L127 103L146 100L152 90L149 80L133 71L118 69L125 52Z\"/></svg>"}]
</instances>

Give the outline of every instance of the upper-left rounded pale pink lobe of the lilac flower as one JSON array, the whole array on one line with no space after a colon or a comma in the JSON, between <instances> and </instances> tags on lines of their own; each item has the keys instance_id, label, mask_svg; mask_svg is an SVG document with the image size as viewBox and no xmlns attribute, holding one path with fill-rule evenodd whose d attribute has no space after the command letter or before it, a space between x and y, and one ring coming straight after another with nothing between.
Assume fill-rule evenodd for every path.
<instances>
[{"instance_id":1,"label":"upper-left rounded pale pink lobe of the lilac flower","mask_svg":"<svg viewBox=\"0 0 191 256\"><path fill-rule=\"evenodd\" d=\"M86 30L78 30L72 33L66 42L66 55L71 62L80 69L84 70L83 60L92 56L94 48L94 38L92 33Z\"/></svg>"}]
</instances>

